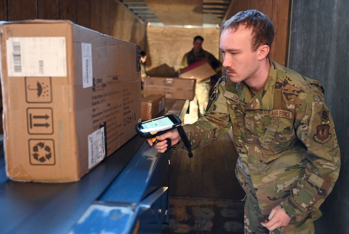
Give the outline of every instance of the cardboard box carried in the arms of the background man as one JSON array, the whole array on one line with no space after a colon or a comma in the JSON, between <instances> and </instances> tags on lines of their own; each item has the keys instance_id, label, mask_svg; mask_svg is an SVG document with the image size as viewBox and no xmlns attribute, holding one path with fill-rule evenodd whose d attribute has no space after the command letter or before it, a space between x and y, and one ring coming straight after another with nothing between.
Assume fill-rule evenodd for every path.
<instances>
[{"instance_id":1,"label":"cardboard box carried in the arms of the background man","mask_svg":"<svg viewBox=\"0 0 349 234\"><path fill-rule=\"evenodd\" d=\"M217 72L214 71L207 62L197 61L196 63L180 69L179 76L186 79L195 79L196 82L200 82L215 75L216 73Z\"/></svg>"}]
</instances>

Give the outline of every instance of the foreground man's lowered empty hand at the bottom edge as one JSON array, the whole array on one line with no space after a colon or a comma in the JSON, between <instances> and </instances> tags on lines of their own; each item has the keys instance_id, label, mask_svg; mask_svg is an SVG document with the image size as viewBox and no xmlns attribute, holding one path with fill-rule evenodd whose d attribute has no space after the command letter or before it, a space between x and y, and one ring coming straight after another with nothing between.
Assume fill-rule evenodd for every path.
<instances>
[{"instance_id":1,"label":"foreground man's lowered empty hand at the bottom edge","mask_svg":"<svg viewBox=\"0 0 349 234\"><path fill-rule=\"evenodd\" d=\"M291 218L281 209L281 207L274 207L270 215L268 217L269 221L265 221L265 223L261 223L261 225L267 228L269 231L273 231L274 229L287 226Z\"/></svg>"}]
</instances>

